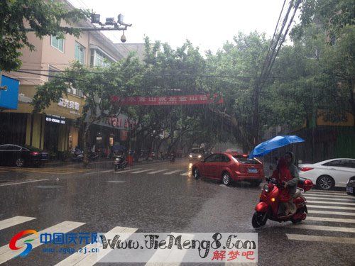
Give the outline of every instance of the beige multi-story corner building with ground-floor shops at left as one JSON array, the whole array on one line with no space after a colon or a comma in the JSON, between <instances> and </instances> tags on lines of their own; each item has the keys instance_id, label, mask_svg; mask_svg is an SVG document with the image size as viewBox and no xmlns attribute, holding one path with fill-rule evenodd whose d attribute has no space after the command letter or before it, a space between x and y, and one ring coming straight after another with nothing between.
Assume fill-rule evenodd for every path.
<instances>
[{"instance_id":1,"label":"beige multi-story corner building with ground-floor shops at left","mask_svg":"<svg viewBox=\"0 0 355 266\"><path fill-rule=\"evenodd\" d=\"M94 27L89 21L73 26ZM21 84L18 108L0 113L0 143L26 143L55 152L69 150L79 142L79 128L75 121L81 116L84 104L82 92L69 89L67 96L58 103L51 104L42 113L33 114L31 101L36 87L53 79L56 72L70 67L75 60L87 67L95 67L120 60L122 56L111 40L99 31L82 31L79 38L65 35L64 39L56 36L40 39L34 33L28 33L28 40L35 50L26 48L21 51L21 70L4 73Z\"/></svg>"}]
</instances>

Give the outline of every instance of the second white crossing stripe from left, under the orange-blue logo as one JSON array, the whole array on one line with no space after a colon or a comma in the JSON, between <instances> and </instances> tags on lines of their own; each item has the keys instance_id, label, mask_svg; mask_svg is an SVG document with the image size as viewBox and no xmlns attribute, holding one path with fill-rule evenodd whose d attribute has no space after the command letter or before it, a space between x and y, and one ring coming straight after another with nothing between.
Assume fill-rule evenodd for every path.
<instances>
[{"instance_id":1,"label":"second white crossing stripe from left, under the orange-blue logo","mask_svg":"<svg viewBox=\"0 0 355 266\"><path fill-rule=\"evenodd\" d=\"M21 240L17 241L16 245L21 246L23 245L23 241L34 239L31 244L33 248L37 248L39 245L42 245L42 243L40 243L39 238L41 233L67 233L84 224L85 223L79 223L74 221L63 221L62 223L58 223L55 226L51 226L49 228L44 229L43 231L39 231L38 235L28 235L25 238L21 238ZM9 244L3 245L0 248L0 264L11 260L13 257L16 257L18 254L22 253L23 250L23 248L19 250L11 250L9 248Z\"/></svg>"}]
</instances>

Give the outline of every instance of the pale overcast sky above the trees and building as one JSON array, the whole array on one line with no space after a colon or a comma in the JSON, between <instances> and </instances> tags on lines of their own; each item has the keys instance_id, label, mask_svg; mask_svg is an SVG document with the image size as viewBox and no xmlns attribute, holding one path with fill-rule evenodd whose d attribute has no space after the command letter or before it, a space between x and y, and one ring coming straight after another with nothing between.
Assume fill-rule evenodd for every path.
<instances>
[{"instance_id":1,"label":"pale overcast sky above the trees and building","mask_svg":"<svg viewBox=\"0 0 355 266\"><path fill-rule=\"evenodd\" d=\"M124 15L133 26L126 43L143 43L143 36L167 42L175 48L186 39L201 51L222 48L239 31L273 35L283 0L70 0L79 8L93 9L106 17ZM121 31L104 32L121 43Z\"/></svg>"}]
</instances>

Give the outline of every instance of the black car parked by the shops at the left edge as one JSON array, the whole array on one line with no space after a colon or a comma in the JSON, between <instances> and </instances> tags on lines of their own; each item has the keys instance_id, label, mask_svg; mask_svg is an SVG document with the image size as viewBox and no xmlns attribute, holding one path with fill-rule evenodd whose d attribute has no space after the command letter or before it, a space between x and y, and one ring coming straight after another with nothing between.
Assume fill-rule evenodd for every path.
<instances>
[{"instance_id":1,"label":"black car parked by the shops at the left edge","mask_svg":"<svg viewBox=\"0 0 355 266\"><path fill-rule=\"evenodd\" d=\"M27 145L0 145L1 165L16 165L17 167L23 167L25 165L39 166L46 160L48 160L48 153L44 153L38 148Z\"/></svg>"}]
</instances>

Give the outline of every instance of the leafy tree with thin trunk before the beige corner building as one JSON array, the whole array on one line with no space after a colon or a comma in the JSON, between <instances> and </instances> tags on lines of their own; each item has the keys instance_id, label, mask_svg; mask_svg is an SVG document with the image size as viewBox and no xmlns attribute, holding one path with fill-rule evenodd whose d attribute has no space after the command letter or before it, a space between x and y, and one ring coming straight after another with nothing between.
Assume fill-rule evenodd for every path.
<instances>
[{"instance_id":1,"label":"leafy tree with thin trunk before the beige corner building","mask_svg":"<svg viewBox=\"0 0 355 266\"><path fill-rule=\"evenodd\" d=\"M84 164L87 160L87 138L89 127L98 121L106 121L109 116L121 113L121 102L113 104L111 96L120 99L140 87L141 64L136 57L127 57L109 67L88 70L79 62L65 70L50 82L37 87L32 105L34 112L45 111L53 102L67 94L67 89L74 87L84 95L82 116L77 119L82 129L84 142Z\"/></svg>"}]
</instances>

